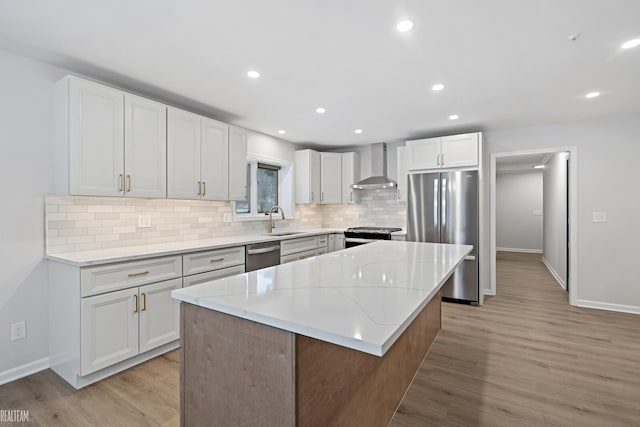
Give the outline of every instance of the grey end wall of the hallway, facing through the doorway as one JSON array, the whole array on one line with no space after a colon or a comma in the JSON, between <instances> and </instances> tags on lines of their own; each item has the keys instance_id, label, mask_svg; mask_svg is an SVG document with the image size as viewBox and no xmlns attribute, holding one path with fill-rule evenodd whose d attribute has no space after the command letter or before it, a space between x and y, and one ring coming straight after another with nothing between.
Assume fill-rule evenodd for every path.
<instances>
[{"instance_id":1,"label":"grey end wall of the hallway, facing through the doorway","mask_svg":"<svg viewBox=\"0 0 640 427\"><path fill-rule=\"evenodd\" d=\"M496 246L542 252L542 171L496 176Z\"/></svg>"}]
</instances>

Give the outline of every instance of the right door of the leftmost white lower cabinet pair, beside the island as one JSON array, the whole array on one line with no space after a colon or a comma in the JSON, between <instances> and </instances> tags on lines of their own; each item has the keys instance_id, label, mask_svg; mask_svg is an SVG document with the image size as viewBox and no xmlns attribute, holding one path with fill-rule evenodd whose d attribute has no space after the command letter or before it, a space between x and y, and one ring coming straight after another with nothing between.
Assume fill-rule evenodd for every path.
<instances>
[{"instance_id":1,"label":"right door of the leftmost white lower cabinet pair, beside the island","mask_svg":"<svg viewBox=\"0 0 640 427\"><path fill-rule=\"evenodd\" d=\"M182 287L182 279L140 287L140 353L180 338L180 302L171 291Z\"/></svg>"}]
</instances>

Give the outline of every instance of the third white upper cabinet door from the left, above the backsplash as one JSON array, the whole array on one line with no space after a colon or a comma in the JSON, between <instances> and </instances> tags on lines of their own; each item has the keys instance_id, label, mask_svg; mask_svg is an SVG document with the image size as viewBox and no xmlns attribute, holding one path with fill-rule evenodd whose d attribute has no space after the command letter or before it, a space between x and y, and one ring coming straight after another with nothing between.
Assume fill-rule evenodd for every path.
<instances>
[{"instance_id":1,"label":"third white upper cabinet door from the left, above the backsplash","mask_svg":"<svg viewBox=\"0 0 640 427\"><path fill-rule=\"evenodd\" d=\"M167 196L199 199L200 116L169 107L167 118Z\"/></svg>"}]
</instances>

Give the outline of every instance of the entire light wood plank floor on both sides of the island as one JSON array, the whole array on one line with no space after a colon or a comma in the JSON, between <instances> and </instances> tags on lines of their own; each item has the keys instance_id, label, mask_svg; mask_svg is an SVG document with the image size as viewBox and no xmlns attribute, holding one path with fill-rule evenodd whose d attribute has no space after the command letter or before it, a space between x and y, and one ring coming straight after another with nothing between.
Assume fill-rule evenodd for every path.
<instances>
[{"instance_id":1,"label":"entire light wood plank floor on both sides of the island","mask_svg":"<svg viewBox=\"0 0 640 427\"><path fill-rule=\"evenodd\" d=\"M392 427L640 426L639 316L570 307L540 255L499 254L497 285L482 307L444 304ZM31 426L178 426L178 358L80 391L43 371L1 386L0 409Z\"/></svg>"}]
</instances>

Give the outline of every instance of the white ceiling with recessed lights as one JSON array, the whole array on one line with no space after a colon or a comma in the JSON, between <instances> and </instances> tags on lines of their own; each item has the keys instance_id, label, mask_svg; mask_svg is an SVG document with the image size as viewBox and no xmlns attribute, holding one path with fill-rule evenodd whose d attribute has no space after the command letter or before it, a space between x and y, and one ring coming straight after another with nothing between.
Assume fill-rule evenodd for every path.
<instances>
[{"instance_id":1,"label":"white ceiling with recessed lights","mask_svg":"<svg viewBox=\"0 0 640 427\"><path fill-rule=\"evenodd\" d=\"M0 47L324 146L638 112L638 37L638 0L0 0Z\"/></svg>"}]
</instances>

